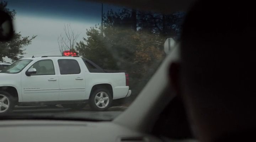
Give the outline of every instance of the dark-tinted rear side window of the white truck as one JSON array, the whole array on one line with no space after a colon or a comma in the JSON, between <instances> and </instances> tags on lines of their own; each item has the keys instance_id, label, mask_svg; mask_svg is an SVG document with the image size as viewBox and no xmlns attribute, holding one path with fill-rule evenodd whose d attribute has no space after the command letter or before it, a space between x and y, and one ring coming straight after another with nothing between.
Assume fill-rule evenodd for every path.
<instances>
[{"instance_id":1,"label":"dark-tinted rear side window of the white truck","mask_svg":"<svg viewBox=\"0 0 256 142\"><path fill-rule=\"evenodd\" d=\"M81 72L80 66L76 60L59 59L58 64L61 75L79 74Z\"/></svg>"}]
</instances>

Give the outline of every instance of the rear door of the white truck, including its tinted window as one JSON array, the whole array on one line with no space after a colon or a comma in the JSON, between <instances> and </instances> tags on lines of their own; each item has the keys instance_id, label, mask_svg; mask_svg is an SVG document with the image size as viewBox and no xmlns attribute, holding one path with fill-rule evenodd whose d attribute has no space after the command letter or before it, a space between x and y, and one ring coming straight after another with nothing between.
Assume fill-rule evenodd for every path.
<instances>
[{"instance_id":1,"label":"rear door of the white truck, including its tinted window","mask_svg":"<svg viewBox=\"0 0 256 142\"><path fill-rule=\"evenodd\" d=\"M60 100L85 99L85 72L75 59L59 59Z\"/></svg>"}]
</instances>

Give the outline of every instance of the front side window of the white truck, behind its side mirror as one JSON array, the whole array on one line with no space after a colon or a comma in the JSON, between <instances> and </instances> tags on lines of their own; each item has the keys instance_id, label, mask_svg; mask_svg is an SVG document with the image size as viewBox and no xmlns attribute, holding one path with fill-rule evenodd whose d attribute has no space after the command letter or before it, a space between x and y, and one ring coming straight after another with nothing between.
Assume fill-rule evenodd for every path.
<instances>
[{"instance_id":1,"label":"front side window of the white truck, behind its side mirror","mask_svg":"<svg viewBox=\"0 0 256 142\"><path fill-rule=\"evenodd\" d=\"M36 69L37 73L35 75L55 75L53 61L52 60L40 60L35 62L30 69Z\"/></svg>"}]
</instances>

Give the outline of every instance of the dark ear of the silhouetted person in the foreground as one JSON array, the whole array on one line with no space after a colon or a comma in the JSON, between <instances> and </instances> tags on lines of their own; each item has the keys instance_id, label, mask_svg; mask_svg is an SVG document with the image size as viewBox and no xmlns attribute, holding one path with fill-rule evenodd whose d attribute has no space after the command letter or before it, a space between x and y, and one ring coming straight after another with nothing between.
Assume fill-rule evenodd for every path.
<instances>
[{"instance_id":1,"label":"dark ear of the silhouetted person in the foreground","mask_svg":"<svg viewBox=\"0 0 256 142\"><path fill-rule=\"evenodd\" d=\"M169 67L169 80L171 88L180 94L180 63L172 62Z\"/></svg>"}]
</instances>

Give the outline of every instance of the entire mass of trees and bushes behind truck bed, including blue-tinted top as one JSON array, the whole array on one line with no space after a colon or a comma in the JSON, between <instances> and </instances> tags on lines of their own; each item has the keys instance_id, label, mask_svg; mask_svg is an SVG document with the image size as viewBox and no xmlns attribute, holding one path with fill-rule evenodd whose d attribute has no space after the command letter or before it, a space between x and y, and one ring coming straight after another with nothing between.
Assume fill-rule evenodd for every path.
<instances>
[{"instance_id":1,"label":"entire mass of trees and bushes behind truck bed, including blue-tinted top","mask_svg":"<svg viewBox=\"0 0 256 142\"><path fill-rule=\"evenodd\" d=\"M103 69L126 70L134 99L165 58L165 39L177 36L179 17L111 10L104 15L102 31L97 26L87 29L87 38L76 43L76 50Z\"/></svg>"}]
</instances>

